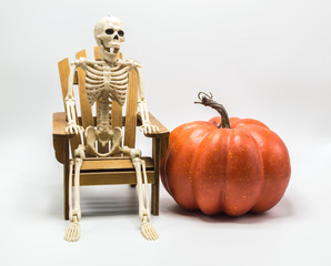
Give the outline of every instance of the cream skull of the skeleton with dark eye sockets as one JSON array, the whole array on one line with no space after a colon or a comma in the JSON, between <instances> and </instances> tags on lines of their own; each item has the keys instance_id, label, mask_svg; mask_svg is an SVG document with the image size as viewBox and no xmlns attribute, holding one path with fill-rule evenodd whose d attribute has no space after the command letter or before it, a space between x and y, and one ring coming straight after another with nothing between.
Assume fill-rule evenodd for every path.
<instances>
[{"instance_id":1,"label":"cream skull of the skeleton with dark eye sockets","mask_svg":"<svg viewBox=\"0 0 331 266\"><path fill-rule=\"evenodd\" d=\"M100 19L94 27L94 38L103 59L116 62L120 44L124 41L122 21L112 16Z\"/></svg>"}]
</instances>

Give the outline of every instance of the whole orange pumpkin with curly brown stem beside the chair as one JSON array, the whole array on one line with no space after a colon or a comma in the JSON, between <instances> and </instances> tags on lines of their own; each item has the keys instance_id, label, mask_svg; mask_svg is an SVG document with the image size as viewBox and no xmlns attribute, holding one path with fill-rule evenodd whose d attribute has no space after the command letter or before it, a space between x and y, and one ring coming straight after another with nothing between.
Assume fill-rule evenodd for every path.
<instances>
[{"instance_id":1,"label":"whole orange pumpkin with curly brown stem beside the chair","mask_svg":"<svg viewBox=\"0 0 331 266\"><path fill-rule=\"evenodd\" d=\"M291 166L287 146L263 123L229 120L211 96L201 104L221 116L174 129L161 162L163 186L188 209L231 216L273 207L288 186Z\"/></svg>"}]
</instances>

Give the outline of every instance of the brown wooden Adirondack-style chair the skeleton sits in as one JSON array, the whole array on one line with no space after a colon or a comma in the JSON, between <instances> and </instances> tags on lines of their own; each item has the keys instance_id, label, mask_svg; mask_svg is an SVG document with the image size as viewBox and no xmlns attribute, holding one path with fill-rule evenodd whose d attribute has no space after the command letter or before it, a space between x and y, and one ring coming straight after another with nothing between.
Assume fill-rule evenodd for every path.
<instances>
[{"instance_id":1,"label":"brown wooden Adirondack-style chair the skeleton sits in","mask_svg":"<svg viewBox=\"0 0 331 266\"><path fill-rule=\"evenodd\" d=\"M87 58L86 50L76 54L77 59L81 57ZM102 59L98 47L94 48L94 59ZM68 93L68 78L70 72L68 58L59 62L59 72L64 101ZM78 96L76 96L76 100L77 106L80 105L81 116L78 116L77 121L79 121L79 124L86 129L89 125L96 126L97 119L93 116L92 108L89 105L87 100L84 78L84 71L78 69L74 75L74 84L78 84L79 86L79 101ZM132 70L129 75L126 116L122 115L122 106L116 102L112 103L110 113L110 120L113 127L124 126L123 144L129 147L134 147L137 126L141 125L141 117L137 112L138 89L138 75L137 72ZM146 136L152 137L152 157L143 157L143 160L147 165L148 182L151 184L152 190L151 213L153 215L159 215L159 165L168 146L169 131L151 113L150 121L152 124L157 125L160 131L157 134L146 134ZM77 149L79 144L83 143L84 140L81 140L80 135L66 134L66 112L53 113L53 146L57 160L63 164L64 218L68 219L69 162L72 160L70 157L70 150L72 154L74 149ZM99 152L106 153L108 150L109 147L102 147L98 144ZM81 168L80 182L80 185L137 184L136 172L130 157L126 157L120 154L118 156L107 158L93 157L91 154L87 154L87 158L84 160Z\"/></svg>"}]
</instances>

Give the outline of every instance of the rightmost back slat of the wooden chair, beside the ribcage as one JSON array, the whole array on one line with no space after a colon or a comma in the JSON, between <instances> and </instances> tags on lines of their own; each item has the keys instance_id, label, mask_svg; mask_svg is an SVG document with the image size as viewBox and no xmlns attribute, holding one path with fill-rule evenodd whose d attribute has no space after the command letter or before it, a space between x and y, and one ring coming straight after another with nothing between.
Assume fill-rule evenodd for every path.
<instances>
[{"instance_id":1,"label":"rightmost back slat of the wooden chair, beside the ribcage","mask_svg":"<svg viewBox=\"0 0 331 266\"><path fill-rule=\"evenodd\" d=\"M129 74L129 90L127 96L126 113L126 135L124 145L134 147L136 145L136 127L137 127L137 110L138 110L138 89L139 80L137 70L131 70Z\"/></svg>"}]
</instances>

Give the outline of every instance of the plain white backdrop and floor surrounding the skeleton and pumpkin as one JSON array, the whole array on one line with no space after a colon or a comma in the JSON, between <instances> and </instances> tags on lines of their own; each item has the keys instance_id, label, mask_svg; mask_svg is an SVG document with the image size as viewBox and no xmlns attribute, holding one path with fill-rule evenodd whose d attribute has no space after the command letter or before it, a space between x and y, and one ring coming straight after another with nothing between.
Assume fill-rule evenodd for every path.
<instances>
[{"instance_id":1,"label":"plain white backdrop and floor surrounding the skeleton and pumpkin","mask_svg":"<svg viewBox=\"0 0 331 266\"><path fill-rule=\"evenodd\" d=\"M2 1L0 264L331 265L330 11L329 0ZM147 242L134 190L83 187L81 239L63 241L57 63L84 48L91 57L108 14L123 20L122 52L142 63L149 110L169 130L214 116L193 104L211 91L231 116L283 139L292 176L273 209L209 217L161 186L160 239Z\"/></svg>"}]
</instances>

